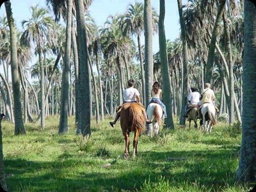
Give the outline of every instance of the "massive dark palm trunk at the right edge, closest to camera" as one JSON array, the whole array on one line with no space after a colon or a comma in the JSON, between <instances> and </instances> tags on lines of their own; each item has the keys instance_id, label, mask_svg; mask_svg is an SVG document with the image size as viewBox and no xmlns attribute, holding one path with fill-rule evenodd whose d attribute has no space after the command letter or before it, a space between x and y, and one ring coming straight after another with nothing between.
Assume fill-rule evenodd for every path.
<instances>
[{"instance_id":1,"label":"massive dark palm trunk at the right edge, closest to camera","mask_svg":"<svg viewBox=\"0 0 256 192\"><path fill-rule=\"evenodd\" d=\"M243 115L242 141L239 167L236 173L241 182L256 180L256 129L255 129L255 83L256 83L256 9L251 1L244 1L244 56L243 56Z\"/></svg>"}]
</instances>

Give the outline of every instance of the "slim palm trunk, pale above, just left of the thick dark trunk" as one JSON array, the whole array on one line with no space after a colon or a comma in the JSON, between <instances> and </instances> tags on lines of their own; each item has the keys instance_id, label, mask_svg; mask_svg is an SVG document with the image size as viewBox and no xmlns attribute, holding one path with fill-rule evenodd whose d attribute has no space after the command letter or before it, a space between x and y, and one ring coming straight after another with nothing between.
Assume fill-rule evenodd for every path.
<instances>
[{"instance_id":1,"label":"slim palm trunk, pale above, just left of the thick dark trunk","mask_svg":"<svg viewBox=\"0 0 256 192\"><path fill-rule=\"evenodd\" d=\"M59 134L68 132L68 92L69 92L69 70L71 49L71 27L72 27L72 0L67 0L67 27L64 66L61 82L61 106Z\"/></svg>"}]
</instances>

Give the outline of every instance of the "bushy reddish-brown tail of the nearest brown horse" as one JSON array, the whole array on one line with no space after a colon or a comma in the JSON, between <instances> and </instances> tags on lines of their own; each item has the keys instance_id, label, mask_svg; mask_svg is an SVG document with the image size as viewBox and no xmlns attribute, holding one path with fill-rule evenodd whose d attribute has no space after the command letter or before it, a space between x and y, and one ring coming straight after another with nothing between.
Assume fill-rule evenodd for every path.
<instances>
[{"instance_id":1,"label":"bushy reddish-brown tail of the nearest brown horse","mask_svg":"<svg viewBox=\"0 0 256 192\"><path fill-rule=\"evenodd\" d=\"M129 108L129 122L132 122L131 130L137 130L140 134L146 130L143 110L145 109L139 105Z\"/></svg>"}]
</instances>

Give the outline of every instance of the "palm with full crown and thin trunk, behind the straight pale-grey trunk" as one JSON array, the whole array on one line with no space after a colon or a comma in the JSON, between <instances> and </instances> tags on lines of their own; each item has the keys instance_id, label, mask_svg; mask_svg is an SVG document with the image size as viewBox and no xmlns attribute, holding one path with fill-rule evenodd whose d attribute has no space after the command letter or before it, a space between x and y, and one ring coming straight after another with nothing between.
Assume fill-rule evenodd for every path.
<instances>
[{"instance_id":1,"label":"palm with full crown and thin trunk, behind the straight pale-grey trunk","mask_svg":"<svg viewBox=\"0 0 256 192\"><path fill-rule=\"evenodd\" d=\"M144 6L142 3L136 2L135 4L129 4L127 12L121 17L121 28L125 36L134 35L137 38L139 60L141 66L141 82L143 90L143 102L145 102L145 71L144 61L141 50L141 33L144 31L144 20L143 20ZM157 32L157 21L158 16L156 10L152 9L152 27L154 33Z\"/></svg>"}]
</instances>

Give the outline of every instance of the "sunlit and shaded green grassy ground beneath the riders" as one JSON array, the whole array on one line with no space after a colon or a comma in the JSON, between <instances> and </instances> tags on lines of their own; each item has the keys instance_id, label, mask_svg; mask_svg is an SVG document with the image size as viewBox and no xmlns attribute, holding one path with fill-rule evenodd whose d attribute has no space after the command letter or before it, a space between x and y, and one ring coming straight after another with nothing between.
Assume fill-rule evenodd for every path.
<instances>
[{"instance_id":1,"label":"sunlit and shaded green grassy ground beneath the riders","mask_svg":"<svg viewBox=\"0 0 256 192\"><path fill-rule=\"evenodd\" d=\"M109 120L99 125L92 120L92 137L82 140L75 135L74 118L68 134L58 135L58 122L47 118L44 130L26 124L23 136L14 136L13 125L3 122L9 191L241 192L255 185L234 179L241 142L237 126L219 123L204 134L177 125L154 138L143 134L138 156L125 160L119 123L113 129Z\"/></svg>"}]
</instances>

